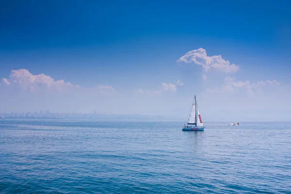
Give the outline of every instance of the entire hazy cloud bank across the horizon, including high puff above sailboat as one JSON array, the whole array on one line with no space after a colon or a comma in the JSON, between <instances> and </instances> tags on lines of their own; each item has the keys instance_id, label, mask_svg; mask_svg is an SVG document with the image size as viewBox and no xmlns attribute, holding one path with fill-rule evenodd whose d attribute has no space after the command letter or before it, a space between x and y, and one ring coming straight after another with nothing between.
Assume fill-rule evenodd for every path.
<instances>
[{"instance_id":1,"label":"entire hazy cloud bank across the horizon, including high puff above sailboat","mask_svg":"<svg viewBox=\"0 0 291 194\"><path fill-rule=\"evenodd\" d=\"M188 52L180 62L194 63L204 70L216 69L224 73L238 72L219 55L207 56L205 49ZM201 70L202 72L203 70ZM188 72L187 72L188 73ZM192 72L189 72L192 74ZM39 111L90 113L141 113L175 115L189 114L196 94L203 118L207 120L232 118L257 118L263 120L285 119L291 113L289 88L275 79L247 80L233 76L207 75L202 79L191 76L177 82L162 82L156 88L115 90L111 85L97 84L82 87L64 80L54 80L49 75L33 75L27 69L12 70L9 77L0 80L1 111ZM187 87L183 87L186 85ZM285 111L285 112L284 112ZM277 112L275 116L271 113ZM281 113L281 114L279 114ZM236 117L237 116L237 117Z\"/></svg>"}]
</instances>

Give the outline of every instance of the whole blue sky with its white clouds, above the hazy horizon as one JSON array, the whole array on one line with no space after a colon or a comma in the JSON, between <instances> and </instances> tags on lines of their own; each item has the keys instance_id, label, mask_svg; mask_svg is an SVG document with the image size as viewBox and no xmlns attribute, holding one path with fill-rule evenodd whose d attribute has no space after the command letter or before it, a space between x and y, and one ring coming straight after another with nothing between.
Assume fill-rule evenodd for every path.
<instances>
[{"instance_id":1,"label":"whole blue sky with its white clouds, above the hazy horizon","mask_svg":"<svg viewBox=\"0 0 291 194\"><path fill-rule=\"evenodd\" d=\"M291 2L0 2L0 112L291 120Z\"/></svg>"}]
</instances>

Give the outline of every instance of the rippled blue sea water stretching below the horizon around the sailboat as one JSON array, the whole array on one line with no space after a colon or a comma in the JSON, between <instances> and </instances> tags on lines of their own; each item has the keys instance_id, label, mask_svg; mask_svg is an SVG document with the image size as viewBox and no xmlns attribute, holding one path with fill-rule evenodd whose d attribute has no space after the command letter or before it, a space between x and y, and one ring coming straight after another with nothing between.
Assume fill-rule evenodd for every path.
<instances>
[{"instance_id":1,"label":"rippled blue sea water stretching below the horizon around the sailboat","mask_svg":"<svg viewBox=\"0 0 291 194\"><path fill-rule=\"evenodd\" d=\"M0 120L0 193L291 193L291 123Z\"/></svg>"}]
</instances>

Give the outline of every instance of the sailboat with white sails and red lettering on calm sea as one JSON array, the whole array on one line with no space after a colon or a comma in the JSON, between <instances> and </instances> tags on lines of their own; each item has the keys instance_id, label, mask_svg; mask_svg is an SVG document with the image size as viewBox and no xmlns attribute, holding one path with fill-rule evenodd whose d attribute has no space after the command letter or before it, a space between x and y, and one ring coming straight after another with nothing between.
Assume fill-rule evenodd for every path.
<instances>
[{"instance_id":1,"label":"sailboat with white sails and red lettering on calm sea","mask_svg":"<svg viewBox=\"0 0 291 194\"><path fill-rule=\"evenodd\" d=\"M189 126L188 126L189 125ZM204 131L204 126L200 116L199 108L196 101L196 95L192 103L191 111L188 118L187 126L183 126L182 130L202 130Z\"/></svg>"}]
</instances>

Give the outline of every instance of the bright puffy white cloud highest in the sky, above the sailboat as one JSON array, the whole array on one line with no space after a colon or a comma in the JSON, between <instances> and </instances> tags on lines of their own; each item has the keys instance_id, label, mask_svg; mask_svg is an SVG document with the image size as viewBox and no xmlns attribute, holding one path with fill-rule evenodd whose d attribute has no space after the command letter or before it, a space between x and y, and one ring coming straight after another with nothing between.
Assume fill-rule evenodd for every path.
<instances>
[{"instance_id":1,"label":"bright puffy white cloud highest in the sky, above the sailboat","mask_svg":"<svg viewBox=\"0 0 291 194\"><path fill-rule=\"evenodd\" d=\"M202 48L187 52L177 62L194 62L196 65L202 65L206 71L209 71L210 68L219 69L225 73L237 72L239 70L239 66L230 64L221 55L207 56L206 50Z\"/></svg>"}]
</instances>

